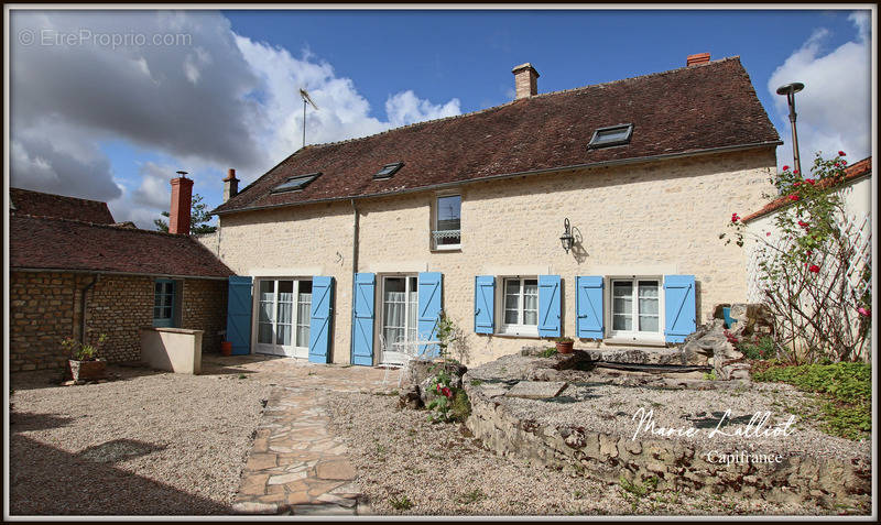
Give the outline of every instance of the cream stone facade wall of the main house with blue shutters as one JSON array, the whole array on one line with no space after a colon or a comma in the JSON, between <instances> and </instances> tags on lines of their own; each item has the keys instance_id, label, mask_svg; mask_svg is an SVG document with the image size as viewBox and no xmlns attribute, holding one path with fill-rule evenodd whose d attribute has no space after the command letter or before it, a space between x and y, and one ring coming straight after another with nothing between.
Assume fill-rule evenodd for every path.
<instances>
[{"instance_id":1,"label":"cream stone facade wall of the main house with blue shutters","mask_svg":"<svg viewBox=\"0 0 881 525\"><path fill-rule=\"evenodd\" d=\"M476 275L561 275L563 332L574 336L577 275L694 274L699 324L716 304L746 300L743 250L718 234L732 212L764 204L775 164L766 149L468 184L456 251L432 249L438 193L359 200L357 270L442 272L444 309L469 333L469 364L530 341L474 333ZM568 253L565 218L578 240ZM350 357L352 226L348 201L220 217L219 254L236 273L336 277L336 363Z\"/></svg>"}]
</instances>

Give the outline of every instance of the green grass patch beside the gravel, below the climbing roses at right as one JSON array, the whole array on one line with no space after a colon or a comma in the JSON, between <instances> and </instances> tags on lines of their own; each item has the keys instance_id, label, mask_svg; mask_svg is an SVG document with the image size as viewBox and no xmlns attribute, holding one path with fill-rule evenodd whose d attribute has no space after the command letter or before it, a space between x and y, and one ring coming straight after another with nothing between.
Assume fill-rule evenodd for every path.
<instances>
[{"instance_id":1,"label":"green grass patch beside the gravel, below the climbing roses at right","mask_svg":"<svg viewBox=\"0 0 881 525\"><path fill-rule=\"evenodd\" d=\"M834 436L862 439L872 431L872 368L867 363L771 365L752 379L819 394L822 429Z\"/></svg>"}]
</instances>

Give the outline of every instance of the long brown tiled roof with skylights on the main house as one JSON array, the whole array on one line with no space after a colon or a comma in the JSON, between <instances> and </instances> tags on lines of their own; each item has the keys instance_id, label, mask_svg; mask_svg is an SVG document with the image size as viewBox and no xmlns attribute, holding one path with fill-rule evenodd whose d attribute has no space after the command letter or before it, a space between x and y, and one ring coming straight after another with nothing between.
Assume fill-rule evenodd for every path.
<instances>
[{"instance_id":1,"label":"long brown tiled roof with skylights on the main house","mask_svg":"<svg viewBox=\"0 0 881 525\"><path fill-rule=\"evenodd\" d=\"M629 144L588 150L597 128L632 123ZM537 95L494 108L298 150L214 212L392 194L492 176L720 147L780 136L738 57ZM383 165L403 162L391 178ZM287 177L322 172L300 192Z\"/></svg>"}]
</instances>

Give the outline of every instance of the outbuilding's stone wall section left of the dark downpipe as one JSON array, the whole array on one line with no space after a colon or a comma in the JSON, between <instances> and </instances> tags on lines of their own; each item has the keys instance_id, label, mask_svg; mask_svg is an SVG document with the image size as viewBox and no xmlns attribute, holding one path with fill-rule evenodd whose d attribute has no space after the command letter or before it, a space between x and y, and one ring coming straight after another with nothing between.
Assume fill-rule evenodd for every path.
<instances>
[{"instance_id":1,"label":"outbuilding's stone wall section left of the dark downpipe","mask_svg":"<svg viewBox=\"0 0 881 525\"><path fill-rule=\"evenodd\" d=\"M74 336L75 281L69 273L10 272L10 372L64 365L61 341Z\"/></svg>"}]
</instances>

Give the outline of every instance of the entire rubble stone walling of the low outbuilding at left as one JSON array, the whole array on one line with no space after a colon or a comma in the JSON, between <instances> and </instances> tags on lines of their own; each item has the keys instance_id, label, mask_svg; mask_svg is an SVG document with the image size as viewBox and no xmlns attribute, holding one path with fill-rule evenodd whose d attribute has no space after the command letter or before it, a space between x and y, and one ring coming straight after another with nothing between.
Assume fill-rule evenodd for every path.
<instances>
[{"instance_id":1,"label":"entire rubble stone walling of the low outbuilding at left","mask_svg":"<svg viewBox=\"0 0 881 525\"><path fill-rule=\"evenodd\" d=\"M63 368L64 338L79 340L81 291L94 275L19 272L10 275L10 371ZM140 329L153 325L154 277L100 275L88 291L86 342L107 335L99 357L141 358ZM205 330L203 350L216 351L226 328L226 281L182 280L182 328Z\"/></svg>"}]
</instances>

